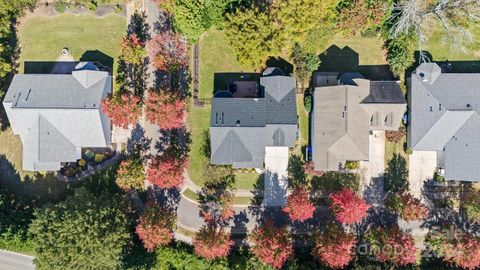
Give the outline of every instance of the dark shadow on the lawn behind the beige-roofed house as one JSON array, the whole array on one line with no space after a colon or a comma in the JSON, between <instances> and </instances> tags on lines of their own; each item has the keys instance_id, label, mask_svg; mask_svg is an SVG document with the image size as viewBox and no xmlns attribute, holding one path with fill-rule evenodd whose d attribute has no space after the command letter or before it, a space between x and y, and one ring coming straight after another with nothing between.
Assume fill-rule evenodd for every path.
<instances>
[{"instance_id":1,"label":"dark shadow on the lawn behind the beige-roofed house","mask_svg":"<svg viewBox=\"0 0 480 270\"><path fill-rule=\"evenodd\" d=\"M332 45L319 56L321 72L359 72L370 80L394 80L388 64L385 65L360 65L359 54L352 48L345 46L339 48Z\"/></svg>"}]
</instances>

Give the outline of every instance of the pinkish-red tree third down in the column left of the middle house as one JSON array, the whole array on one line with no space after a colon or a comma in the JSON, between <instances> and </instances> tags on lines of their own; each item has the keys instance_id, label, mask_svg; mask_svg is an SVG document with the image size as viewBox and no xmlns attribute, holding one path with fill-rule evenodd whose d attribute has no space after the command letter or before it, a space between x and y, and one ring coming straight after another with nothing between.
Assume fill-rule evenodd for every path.
<instances>
[{"instance_id":1,"label":"pinkish-red tree third down in the column left of the middle house","mask_svg":"<svg viewBox=\"0 0 480 270\"><path fill-rule=\"evenodd\" d=\"M183 184L183 171L188 160L166 155L153 159L147 168L147 180L160 188L177 188Z\"/></svg>"}]
</instances>

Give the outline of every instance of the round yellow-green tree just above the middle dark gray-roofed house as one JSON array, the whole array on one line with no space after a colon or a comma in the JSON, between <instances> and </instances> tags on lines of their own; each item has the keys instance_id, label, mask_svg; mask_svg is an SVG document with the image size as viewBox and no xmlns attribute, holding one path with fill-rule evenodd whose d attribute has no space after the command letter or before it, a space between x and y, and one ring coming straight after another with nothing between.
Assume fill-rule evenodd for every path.
<instances>
[{"instance_id":1,"label":"round yellow-green tree just above the middle dark gray-roofed house","mask_svg":"<svg viewBox=\"0 0 480 270\"><path fill-rule=\"evenodd\" d=\"M245 68L260 69L269 56L280 52L280 29L272 22L271 14L258 8L241 8L227 15L227 38Z\"/></svg>"}]
</instances>

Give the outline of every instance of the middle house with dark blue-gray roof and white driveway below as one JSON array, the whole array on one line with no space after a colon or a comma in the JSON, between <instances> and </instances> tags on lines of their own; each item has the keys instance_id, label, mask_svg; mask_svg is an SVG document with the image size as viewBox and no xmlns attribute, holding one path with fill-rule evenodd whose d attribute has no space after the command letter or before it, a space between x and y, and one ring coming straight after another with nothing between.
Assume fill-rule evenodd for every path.
<instances>
[{"instance_id":1,"label":"middle house with dark blue-gray roof and white driveway below","mask_svg":"<svg viewBox=\"0 0 480 270\"><path fill-rule=\"evenodd\" d=\"M296 138L295 80L280 69L267 68L259 82L232 82L215 93L212 164L263 168L267 147L293 147Z\"/></svg>"}]
</instances>

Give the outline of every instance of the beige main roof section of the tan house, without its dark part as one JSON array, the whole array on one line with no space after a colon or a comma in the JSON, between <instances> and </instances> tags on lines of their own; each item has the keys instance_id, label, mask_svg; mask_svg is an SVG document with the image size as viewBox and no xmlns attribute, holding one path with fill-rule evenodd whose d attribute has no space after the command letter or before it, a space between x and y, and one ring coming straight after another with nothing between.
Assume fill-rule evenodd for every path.
<instances>
[{"instance_id":1,"label":"beige main roof section of the tan house, without its dark part","mask_svg":"<svg viewBox=\"0 0 480 270\"><path fill-rule=\"evenodd\" d=\"M335 171L340 160L368 159L369 117L360 106L365 97L361 87L340 85L315 89L313 162L316 170Z\"/></svg>"}]
</instances>

